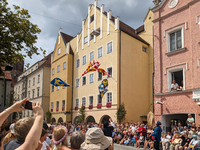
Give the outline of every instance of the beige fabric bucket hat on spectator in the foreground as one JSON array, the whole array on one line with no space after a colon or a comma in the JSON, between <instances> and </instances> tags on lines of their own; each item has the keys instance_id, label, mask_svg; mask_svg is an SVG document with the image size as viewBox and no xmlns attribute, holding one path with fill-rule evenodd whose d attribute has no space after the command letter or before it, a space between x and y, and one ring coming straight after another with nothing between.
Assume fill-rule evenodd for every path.
<instances>
[{"instance_id":1,"label":"beige fabric bucket hat on spectator in the foreground","mask_svg":"<svg viewBox=\"0 0 200 150\"><path fill-rule=\"evenodd\" d=\"M81 144L81 148L85 150L104 150L112 143L111 137L106 137L100 128L90 128L86 132L85 141Z\"/></svg>"}]
</instances>

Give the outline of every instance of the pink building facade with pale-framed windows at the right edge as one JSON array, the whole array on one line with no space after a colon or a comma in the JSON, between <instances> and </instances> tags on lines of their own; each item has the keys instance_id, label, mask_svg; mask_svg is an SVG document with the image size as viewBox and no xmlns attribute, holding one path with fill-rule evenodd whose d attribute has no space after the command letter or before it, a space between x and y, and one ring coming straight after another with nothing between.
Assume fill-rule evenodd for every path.
<instances>
[{"instance_id":1,"label":"pink building facade with pale-framed windows at the right edge","mask_svg":"<svg viewBox=\"0 0 200 150\"><path fill-rule=\"evenodd\" d=\"M152 11L155 121L166 132L191 113L200 125L200 0L163 0Z\"/></svg>"}]
</instances>

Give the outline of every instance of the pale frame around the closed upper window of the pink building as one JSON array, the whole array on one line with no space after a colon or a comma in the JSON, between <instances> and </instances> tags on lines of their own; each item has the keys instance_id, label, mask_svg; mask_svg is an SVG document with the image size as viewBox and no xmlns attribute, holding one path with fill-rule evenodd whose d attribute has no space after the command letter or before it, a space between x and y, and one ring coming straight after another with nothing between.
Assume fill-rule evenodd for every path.
<instances>
[{"instance_id":1,"label":"pale frame around the closed upper window of the pink building","mask_svg":"<svg viewBox=\"0 0 200 150\"><path fill-rule=\"evenodd\" d=\"M170 34L176 32L178 30L181 30L182 48L184 48L184 29L183 29L183 27L176 28L172 31L167 32L167 52L168 53L172 52L172 51L170 51ZM179 50L179 49L175 49L173 51L176 51L176 50Z\"/></svg>"}]
</instances>

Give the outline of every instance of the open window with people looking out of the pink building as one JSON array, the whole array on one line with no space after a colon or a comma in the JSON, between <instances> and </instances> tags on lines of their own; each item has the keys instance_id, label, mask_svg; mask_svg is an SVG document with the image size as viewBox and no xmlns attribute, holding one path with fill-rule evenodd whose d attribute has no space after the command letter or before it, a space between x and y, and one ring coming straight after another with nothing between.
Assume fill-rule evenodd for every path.
<instances>
[{"instance_id":1,"label":"open window with people looking out of the pink building","mask_svg":"<svg viewBox=\"0 0 200 150\"><path fill-rule=\"evenodd\" d=\"M169 81L169 83L168 83L169 91L184 90L185 89L184 76L185 76L184 68L177 68L177 69L173 69L173 70L169 71L169 80L168 80ZM177 89L172 89L173 81L175 82L175 84L178 84Z\"/></svg>"}]
</instances>

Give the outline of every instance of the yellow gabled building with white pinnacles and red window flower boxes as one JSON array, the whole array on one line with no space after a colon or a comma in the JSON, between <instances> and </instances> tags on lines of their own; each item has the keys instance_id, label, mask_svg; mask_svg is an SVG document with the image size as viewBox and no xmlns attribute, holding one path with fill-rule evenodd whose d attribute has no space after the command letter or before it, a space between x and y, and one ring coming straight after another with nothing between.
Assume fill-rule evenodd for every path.
<instances>
[{"instance_id":1,"label":"yellow gabled building with white pinnacles and red window flower boxes","mask_svg":"<svg viewBox=\"0 0 200 150\"><path fill-rule=\"evenodd\" d=\"M96 0L94 5L88 7L88 15L82 21L81 32L68 43L73 55L57 55L59 45L55 46L51 69L65 61L72 61L71 65L69 64L72 68L69 67L70 70L66 73L55 71L52 79L59 77L73 86L51 92L52 102L55 103L58 98L64 100L65 95L66 105L71 106L71 109L67 109L71 111L66 114L60 112L60 109L56 112L56 106L53 104L52 117L56 121L60 117L66 118L63 119L64 122L77 121L81 106L85 106L85 122L97 123L104 122L109 117L117 121L117 108L122 103L127 110L124 122L146 121L145 116L152 110L152 79L149 77L152 74L149 69L152 63L149 53L151 44L111 13L111 10L104 11L104 5L99 8ZM65 45L63 49L66 49ZM102 77L97 71L82 76L91 60L98 61L101 64L99 68L104 69L110 76ZM72 75L71 78L67 78L69 80L66 79L66 74ZM108 79L108 92L100 100L98 86L103 79Z\"/></svg>"}]
</instances>

